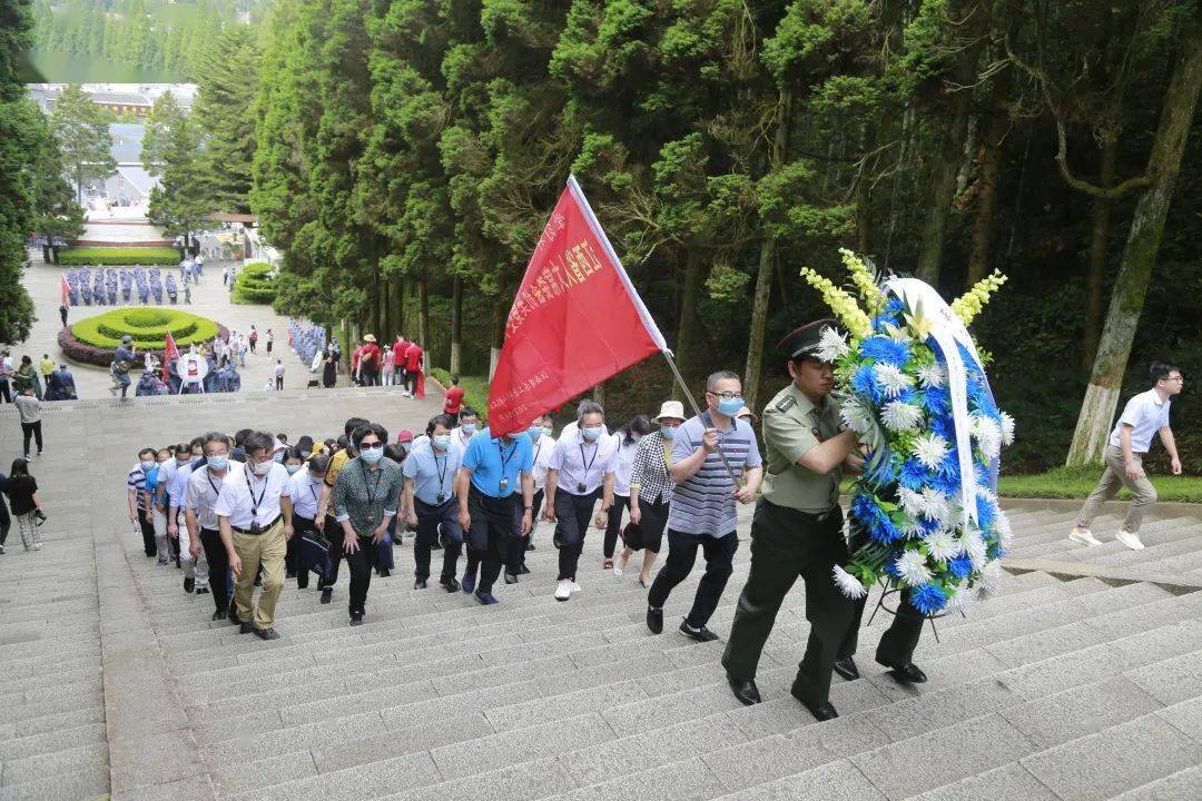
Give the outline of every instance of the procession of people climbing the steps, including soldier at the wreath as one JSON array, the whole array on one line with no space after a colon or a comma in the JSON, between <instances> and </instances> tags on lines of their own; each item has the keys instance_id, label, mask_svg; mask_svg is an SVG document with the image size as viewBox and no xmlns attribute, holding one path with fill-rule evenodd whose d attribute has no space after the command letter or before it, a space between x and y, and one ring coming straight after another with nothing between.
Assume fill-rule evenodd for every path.
<instances>
[{"instance_id":1,"label":"procession of people climbing the steps, including soldier at the wreath","mask_svg":"<svg viewBox=\"0 0 1202 801\"><path fill-rule=\"evenodd\" d=\"M832 366L816 355L829 325L819 321L781 341L791 382L764 410L762 456L739 377L720 371L707 381L700 414L686 418L679 402L667 401L656 426L639 416L613 434L593 401L579 405L558 438L549 416L494 436L466 406L432 418L422 436L401 432L395 443L387 429L362 418L349 419L338 441L304 437L298 447L267 432L209 432L174 453L144 449L130 472L131 520L153 556L171 546L156 540L156 515L180 515L184 527L172 528L179 537L189 532L186 548L179 545L192 561L185 588L198 586L203 557L214 620L263 639L279 636L275 606L288 576L307 587L315 574L321 603L331 603L343 562L347 620L361 624L373 572L387 575L391 567L381 549L391 552L406 528L416 532L413 587L428 587L432 557L441 551L439 586L483 605L504 598L502 572L505 584L530 572L525 554L535 548L540 520L554 526L559 602L583 591L579 558L589 528L613 530L602 567L620 576L644 550L639 578L653 634L664 630L672 592L701 551L703 574L679 630L704 642L719 636L708 623L733 573L737 507L755 503L750 573L722 665L734 695L760 703L760 654L785 596L802 579L811 629L791 692L816 718L829 719L838 715L829 701L833 674L859 675L853 656L863 611L863 602L844 597L832 580L833 567L856 546L844 536L839 483L863 459L831 396ZM136 506L135 495L144 502ZM623 510L630 525L615 552ZM667 556L653 576L664 539ZM923 621L903 599L876 650L899 681L926 681L912 663Z\"/></svg>"}]
</instances>

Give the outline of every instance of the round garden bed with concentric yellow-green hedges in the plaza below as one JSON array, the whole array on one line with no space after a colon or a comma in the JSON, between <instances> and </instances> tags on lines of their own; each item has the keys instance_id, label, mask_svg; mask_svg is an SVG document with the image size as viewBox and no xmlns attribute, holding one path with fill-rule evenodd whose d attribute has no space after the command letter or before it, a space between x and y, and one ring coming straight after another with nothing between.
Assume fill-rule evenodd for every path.
<instances>
[{"instance_id":1,"label":"round garden bed with concentric yellow-green hedges in the plaza below","mask_svg":"<svg viewBox=\"0 0 1202 801\"><path fill-rule=\"evenodd\" d=\"M167 331L171 331L180 351L194 342L207 342L214 336L225 337L230 334L225 325L207 317L178 309L138 306L114 309L61 329L59 347L73 361L107 367L113 361L123 336L133 337L139 354L145 351L161 354Z\"/></svg>"}]
</instances>

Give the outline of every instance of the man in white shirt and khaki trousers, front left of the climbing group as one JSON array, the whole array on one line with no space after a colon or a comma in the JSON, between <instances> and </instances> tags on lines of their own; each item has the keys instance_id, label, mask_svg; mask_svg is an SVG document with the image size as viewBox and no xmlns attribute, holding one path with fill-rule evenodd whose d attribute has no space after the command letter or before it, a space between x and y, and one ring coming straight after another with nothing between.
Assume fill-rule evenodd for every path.
<instances>
[{"instance_id":1,"label":"man in white shirt and khaki trousers, front left of the climbing group","mask_svg":"<svg viewBox=\"0 0 1202 801\"><path fill-rule=\"evenodd\" d=\"M237 580L234 609L230 620L242 624L243 634L251 630L264 640L279 639L273 627L275 602L284 587L284 560L292 538L292 497L288 471L272 459L275 437L252 431L243 448L246 464L232 470L221 485L214 510L221 542L230 556L230 569ZM263 592L258 605L251 604L255 574L263 566Z\"/></svg>"}]
</instances>

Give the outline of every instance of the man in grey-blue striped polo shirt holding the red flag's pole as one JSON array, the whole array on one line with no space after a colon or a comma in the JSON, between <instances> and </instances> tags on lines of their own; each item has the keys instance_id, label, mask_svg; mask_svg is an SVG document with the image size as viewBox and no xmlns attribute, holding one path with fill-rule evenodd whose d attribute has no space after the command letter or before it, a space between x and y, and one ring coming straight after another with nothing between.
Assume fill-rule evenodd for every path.
<instances>
[{"instance_id":1,"label":"man in grey-blue striped polo shirt holding the red flag's pole","mask_svg":"<svg viewBox=\"0 0 1202 801\"><path fill-rule=\"evenodd\" d=\"M718 639L706 623L731 578L739 546L734 502L754 501L763 476L755 432L736 417L743 408L739 377L725 370L713 373L706 381L706 404L707 411L685 420L673 440L676 488L668 512L668 557L647 594L647 627L659 634L664 630L664 604L673 587L689 576L701 548L706 575L680 623L686 636L701 642Z\"/></svg>"}]
</instances>

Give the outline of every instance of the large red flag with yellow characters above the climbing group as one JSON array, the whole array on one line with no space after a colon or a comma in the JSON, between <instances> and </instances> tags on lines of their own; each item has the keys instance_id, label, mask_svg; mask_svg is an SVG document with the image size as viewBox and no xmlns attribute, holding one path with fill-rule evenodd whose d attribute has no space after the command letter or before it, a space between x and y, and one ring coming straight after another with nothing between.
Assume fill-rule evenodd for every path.
<instances>
[{"instance_id":1,"label":"large red flag with yellow characters above the climbing group","mask_svg":"<svg viewBox=\"0 0 1202 801\"><path fill-rule=\"evenodd\" d=\"M505 325L488 393L493 436L667 351L576 178L559 196Z\"/></svg>"}]
</instances>

